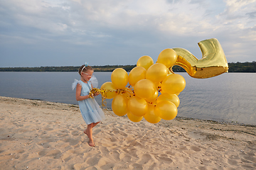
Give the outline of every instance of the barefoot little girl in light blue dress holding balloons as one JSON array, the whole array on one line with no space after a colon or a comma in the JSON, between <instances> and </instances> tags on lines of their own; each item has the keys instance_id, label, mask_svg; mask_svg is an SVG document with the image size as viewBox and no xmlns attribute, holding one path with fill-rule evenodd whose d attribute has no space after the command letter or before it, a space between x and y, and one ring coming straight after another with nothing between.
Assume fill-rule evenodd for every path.
<instances>
[{"instance_id":1,"label":"barefoot little girl in light blue dress holding balloons","mask_svg":"<svg viewBox=\"0 0 256 170\"><path fill-rule=\"evenodd\" d=\"M84 130L84 133L89 137L89 145L95 147L95 143L92 139L92 128L100 123L100 121L104 120L105 115L99 104L95 101L95 98L91 98L89 95L90 90L93 88L90 81L93 74L92 67L85 63L80 67L78 73L80 74L81 79L80 81L75 79L75 82L73 83L73 89L76 85L75 98L78 101L82 118L87 124L87 129Z\"/></svg>"}]
</instances>

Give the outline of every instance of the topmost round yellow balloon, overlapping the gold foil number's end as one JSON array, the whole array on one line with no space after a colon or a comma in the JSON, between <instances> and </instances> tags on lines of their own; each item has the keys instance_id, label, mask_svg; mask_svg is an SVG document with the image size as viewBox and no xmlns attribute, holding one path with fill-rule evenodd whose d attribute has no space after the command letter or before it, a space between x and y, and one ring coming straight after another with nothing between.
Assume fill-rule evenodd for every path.
<instances>
[{"instance_id":1,"label":"topmost round yellow balloon, overlapping the gold foil number's end","mask_svg":"<svg viewBox=\"0 0 256 170\"><path fill-rule=\"evenodd\" d=\"M176 52L171 48L167 48L160 52L159 57L157 58L157 63L162 63L166 65L166 67L172 67L177 58L178 55Z\"/></svg>"}]
</instances>

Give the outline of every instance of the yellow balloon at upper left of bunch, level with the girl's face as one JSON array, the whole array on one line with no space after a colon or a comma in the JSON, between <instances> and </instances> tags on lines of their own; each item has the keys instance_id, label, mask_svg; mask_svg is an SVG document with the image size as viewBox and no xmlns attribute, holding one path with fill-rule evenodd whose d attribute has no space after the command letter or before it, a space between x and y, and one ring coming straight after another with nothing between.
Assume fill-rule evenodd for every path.
<instances>
[{"instance_id":1,"label":"yellow balloon at upper left of bunch, level with the girl's face","mask_svg":"<svg viewBox=\"0 0 256 170\"><path fill-rule=\"evenodd\" d=\"M128 83L128 74L125 69L114 69L111 74L111 81L117 89L124 89Z\"/></svg>"}]
</instances>

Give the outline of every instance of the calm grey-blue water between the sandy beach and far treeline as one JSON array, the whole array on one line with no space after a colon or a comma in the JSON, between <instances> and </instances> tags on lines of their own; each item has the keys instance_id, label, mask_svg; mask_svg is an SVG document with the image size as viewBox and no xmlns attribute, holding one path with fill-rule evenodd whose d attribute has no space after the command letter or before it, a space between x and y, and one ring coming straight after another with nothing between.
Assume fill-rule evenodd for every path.
<instances>
[{"instance_id":1,"label":"calm grey-blue water between the sandy beach and far treeline","mask_svg":"<svg viewBox=\"0 0 256 170\"><path fill-rule=\"evenodd\" d=\"M95 72L99 87L111 81L111 72ZM256 74L228 73L193 79L187 73L178 116L256 125ZM0 96L78 104L71 84L77 72L0 72ZM101 96L96 97L101 105ZM107 101L111 107L111 100Z\"/></svg>"}]
</instances>

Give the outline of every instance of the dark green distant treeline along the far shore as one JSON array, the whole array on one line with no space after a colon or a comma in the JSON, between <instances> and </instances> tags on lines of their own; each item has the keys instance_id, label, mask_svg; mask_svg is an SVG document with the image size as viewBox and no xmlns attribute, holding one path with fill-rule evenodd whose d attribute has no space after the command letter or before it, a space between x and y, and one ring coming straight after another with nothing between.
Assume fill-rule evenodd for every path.
<instances>
[{"instance_id":1,"label":"dark green distant treeline along the far shore","mask_svg":"<svg viewBox=\"0 0 256 170\"><path fill-rule=\"evenodd\" d=\"M95 72L112 72L114 69L123 68L130 72L136 65L105 65L92 66ZM256 72L256 62L231 62L228 63L228 72ZM0 72L78 72L79 67L1 67ZM182 67L174 66L174 72L186 72Z\"/></svg>"}]
</instances>

